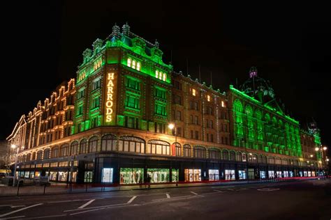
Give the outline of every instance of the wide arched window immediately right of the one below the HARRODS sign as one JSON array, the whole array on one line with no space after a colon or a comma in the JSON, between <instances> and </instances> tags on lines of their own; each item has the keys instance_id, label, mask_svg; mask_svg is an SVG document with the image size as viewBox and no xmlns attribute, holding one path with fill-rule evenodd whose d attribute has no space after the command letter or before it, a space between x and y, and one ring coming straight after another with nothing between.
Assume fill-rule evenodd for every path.
<instances>
[{"instance_id":1,"label":"wide arched window immediately right of the one below the HARRODS sign","mask_svg":"<svg viewBox=\"0 0 331 220\"><path fill-rule=\"evenodd\" d=\"M119 139L119 151L145 152L145 141L135 136L121 136Z\"/></svg>"}]
</instances>

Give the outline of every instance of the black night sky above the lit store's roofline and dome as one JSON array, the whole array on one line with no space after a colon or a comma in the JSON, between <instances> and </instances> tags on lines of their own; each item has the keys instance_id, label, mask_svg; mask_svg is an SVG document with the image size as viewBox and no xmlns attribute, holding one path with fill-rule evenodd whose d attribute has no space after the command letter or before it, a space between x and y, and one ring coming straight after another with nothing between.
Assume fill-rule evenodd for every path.
<instances>
[{"instance_id":1,"label":"black night sky above the lit store's roofline and dome","mask_svg":"<svg viewBox=\"0 0 331 220\"><path fill-rule=\"evenodd\" d=\"M255 65L277 97L305 125L312 117L331 147L328 6L221 1L52 1L2 6L0 139L23 113L50 97L61 81L75 77L82 52L125 22L146 40L158 39L164 61L176 71L226 91L242 84ZM331 151L331 150L329 150Z\"/></svg>"}]
</instances>

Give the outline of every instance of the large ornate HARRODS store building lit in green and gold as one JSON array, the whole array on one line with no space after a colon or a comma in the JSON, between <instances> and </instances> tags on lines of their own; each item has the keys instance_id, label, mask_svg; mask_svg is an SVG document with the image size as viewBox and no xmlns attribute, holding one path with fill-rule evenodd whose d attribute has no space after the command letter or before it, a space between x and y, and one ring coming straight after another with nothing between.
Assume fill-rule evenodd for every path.
<instances>
[{"instance_id":1,"label":"large ornate HARRODS store building lit in green and gold","mask_svg":"<svg viewBox=\"0 0 331 220\"><path fill-rule=\"evenodd\" d=\"M7 139L20 149L18 175L120 184L316 175L322 164L316 153L304 159L297 121L174 72L158 42L129 29L97 39L77 79L20 118Z\"/></svg>"}]
</instances>

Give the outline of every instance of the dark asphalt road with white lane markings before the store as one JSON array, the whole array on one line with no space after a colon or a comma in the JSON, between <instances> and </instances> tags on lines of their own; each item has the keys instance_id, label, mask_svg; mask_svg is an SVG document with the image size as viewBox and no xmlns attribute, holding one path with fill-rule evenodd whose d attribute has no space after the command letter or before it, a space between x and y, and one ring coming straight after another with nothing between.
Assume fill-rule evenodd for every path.
<instances>
[{"instance_id":1,"label":"dark asphalt road with white lane markings before the store","mask_svg":"<svg viewBox=\"0 0 331 220\"><path fill-rule=\"evenodd\" d=\"M331 180L0 198L0 219L331 219Z\"/></svg>"}]
</instances>

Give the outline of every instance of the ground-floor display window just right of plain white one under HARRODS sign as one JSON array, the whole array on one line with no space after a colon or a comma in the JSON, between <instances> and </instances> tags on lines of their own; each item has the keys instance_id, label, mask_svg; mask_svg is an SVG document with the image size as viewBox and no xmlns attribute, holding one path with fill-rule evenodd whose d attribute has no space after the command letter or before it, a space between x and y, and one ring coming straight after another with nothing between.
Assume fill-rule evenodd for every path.
<instances>
[{"instance_id":1,"label":"ground-floor display window just right of plain white one under HARRODS sign","mask_svg":"<svg viewBox=\"0 0 331 220\"><path fill-rule=\"evenodd\" d=\"M144 168L121 168L119 172L120 184L137 184L144 182Z\"/></svg>"}]
</instances>

